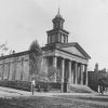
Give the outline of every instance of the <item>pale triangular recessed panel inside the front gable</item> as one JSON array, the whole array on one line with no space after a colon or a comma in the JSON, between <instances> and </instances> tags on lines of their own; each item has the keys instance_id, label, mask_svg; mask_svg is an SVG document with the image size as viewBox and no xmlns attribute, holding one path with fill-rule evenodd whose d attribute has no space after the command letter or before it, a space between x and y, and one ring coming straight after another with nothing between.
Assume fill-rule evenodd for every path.
<instances>
[{"instance_id":1,"label":"pale triangular recessed panel inside the front gable","mask_svg":"<svg viewBox=\"0 0 108 108\"><path fill-rule=\"evenodd\" d=\"M86 58L85 54L82 53L82 51L79 50L77 46L64 46L64 48L60 48L60 50L66 51L67 53Z\"/></svg>"}]
</instances>

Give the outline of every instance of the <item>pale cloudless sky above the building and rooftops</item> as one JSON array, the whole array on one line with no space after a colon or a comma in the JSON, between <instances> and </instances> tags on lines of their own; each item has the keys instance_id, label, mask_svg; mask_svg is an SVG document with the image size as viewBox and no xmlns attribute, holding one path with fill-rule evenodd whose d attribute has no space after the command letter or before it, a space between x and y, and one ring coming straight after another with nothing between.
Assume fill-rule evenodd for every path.
<instances>
[{"instance_id":1,"label":"pale cloudless sky above the building and rooftops","mask_svg":"<svg viewBox=\"0 0 108 108\"><path fill-rule=\"evenodd\" d=\"M43 46L52 19L60 10L69 42L78 42L91 56L89 70L98 63L108 69L108 0L0 0L0 44L27 51L33 40Z\"/></svg>"}]
</instances>

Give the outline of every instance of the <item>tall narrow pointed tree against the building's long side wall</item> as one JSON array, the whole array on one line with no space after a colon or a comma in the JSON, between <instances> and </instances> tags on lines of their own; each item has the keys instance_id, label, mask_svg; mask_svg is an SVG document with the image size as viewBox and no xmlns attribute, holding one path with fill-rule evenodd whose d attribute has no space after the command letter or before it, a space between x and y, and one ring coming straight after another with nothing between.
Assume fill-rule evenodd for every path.
<instances>
[{"instance_id":1,"label":"tall narrow pointed tree against the building's long side wall","mask_svg":"<svg viewBox=\"0 0 108 108\"><path fill-rule=\"evenodd\" d=\"M38 77L41 71L42 51L37 40L31 43L29 51L30 75L35 73Z\"/></svg>"}]
</instances>

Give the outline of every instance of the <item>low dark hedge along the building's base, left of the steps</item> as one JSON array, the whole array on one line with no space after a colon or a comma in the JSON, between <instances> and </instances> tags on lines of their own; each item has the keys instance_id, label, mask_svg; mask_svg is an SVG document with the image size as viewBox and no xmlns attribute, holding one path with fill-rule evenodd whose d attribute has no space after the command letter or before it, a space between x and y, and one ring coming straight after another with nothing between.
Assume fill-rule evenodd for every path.
<instances>
[{"instance_id":1,"label":"low dark hedge along the building's base, left of the steps","mask_svg":"<svg viewBox=\"0 0 108 108\"><path fill-rule=\"evenodd\" d=\"M15 80L15 81L3 80L3 81L0 81L0 86L12 87L12 89L16 89L16 90L30 91L31 90L31 82L19 81L19 80ZM49 92L51 90L59 90L60 83L36 81L35 87L38 92L40 92L40 91Z\"/></svg>"}]
</instances>

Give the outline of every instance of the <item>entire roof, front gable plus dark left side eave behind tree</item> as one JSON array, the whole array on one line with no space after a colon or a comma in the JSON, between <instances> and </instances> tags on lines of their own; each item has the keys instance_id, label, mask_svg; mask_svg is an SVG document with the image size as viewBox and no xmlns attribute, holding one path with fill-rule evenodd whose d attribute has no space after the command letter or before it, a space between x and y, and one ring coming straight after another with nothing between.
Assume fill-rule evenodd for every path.
<instances>
[{"instance_id":1,"label":"entire roof, front gable plus dark left side eave behind tree","mask_svg":"<svg viewBox=\"0 0 108 108\"><path fill-rule=\"evenodd\" d=\"M78 42L48 44L41 49L42 49L42 51L59 50L62 52L65 52L65 53L68 53L68 54L75 55L75 56L79 56L82 58L87 58L87 59L91 58L90 55L79 45ZM0 59L22 56L22 55L29 54L30 52L31 51L24 51L24 52L19 52L19 53L14 53L14 54L1 56Z\"/></svg>"}]
</instances>

